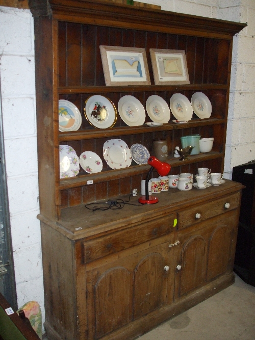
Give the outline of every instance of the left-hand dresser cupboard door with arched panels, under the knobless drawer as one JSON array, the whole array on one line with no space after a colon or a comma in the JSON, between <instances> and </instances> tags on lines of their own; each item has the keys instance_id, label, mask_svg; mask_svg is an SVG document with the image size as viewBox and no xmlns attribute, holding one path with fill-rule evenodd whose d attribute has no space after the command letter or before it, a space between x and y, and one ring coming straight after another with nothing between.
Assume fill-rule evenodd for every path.
<instances>
[{"instance_id":1,"label":"left-hand dresser cupboard door with arched panels, under the knobless drawer","mask_svg":"<svg viewBox=\"0 0 255 340\"><path fill-rule=\"evenodd\" d=\"M87 272L88 339L100 338L166 304L168 280L174 279L174 271L165 270L168 244Z\"/></svg>"}]
</instances>

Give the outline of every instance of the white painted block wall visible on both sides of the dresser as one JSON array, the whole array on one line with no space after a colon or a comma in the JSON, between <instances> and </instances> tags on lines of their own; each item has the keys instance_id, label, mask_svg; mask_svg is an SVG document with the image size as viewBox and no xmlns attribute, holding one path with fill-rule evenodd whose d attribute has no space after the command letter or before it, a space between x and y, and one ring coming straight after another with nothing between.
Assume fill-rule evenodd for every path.
<instances>
[{"instance_id":1,"label":"white painted block wall visible on both sides of the dresser","mask_svg":"<svg viewBox=\"0 0 255 340\"><path fill-rule=\"evenodd\" d=\"M140 0L163 10L248 22L234 38L225 178L255 159L255 1ZM0 77L18 306L43 307L38 204L34 31L29 10L0 6Z\"/></svg>"}]
</instances>

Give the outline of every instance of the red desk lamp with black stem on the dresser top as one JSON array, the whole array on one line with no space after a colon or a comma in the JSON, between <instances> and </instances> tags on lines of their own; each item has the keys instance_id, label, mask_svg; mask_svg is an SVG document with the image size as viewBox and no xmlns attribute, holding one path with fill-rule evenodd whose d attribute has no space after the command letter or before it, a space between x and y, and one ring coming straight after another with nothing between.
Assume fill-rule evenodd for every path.
<instances>
[{"instance_id":1,"label":"red desk lamp with black stem on the dresser top","mask_svg":"<svg viewBox=\"0 0 255 340\"><path fill-rule=\"evenodd\" d=\"M150 156L147 163L151 165L151 168L145 179L145 196L141 196L138 202L143 204L154 204L158 203L159 199L158 197L149 195L149 176L153 169L156 169L160 176L166 176L169 173L171 166L166 162L159 161L155 156Z\"/></svg>"}]
</instances>

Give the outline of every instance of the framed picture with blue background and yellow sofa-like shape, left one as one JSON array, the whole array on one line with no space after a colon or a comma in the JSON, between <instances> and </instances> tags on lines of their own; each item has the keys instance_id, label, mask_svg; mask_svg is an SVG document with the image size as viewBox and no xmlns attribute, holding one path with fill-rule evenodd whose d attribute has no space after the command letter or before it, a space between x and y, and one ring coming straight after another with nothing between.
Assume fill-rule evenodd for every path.
<instances>
[{"instance_id":1,"label":"framed picture with blue background and yellow sofa-like shape, left one","mask_svg":"<svg viewBox=\"0 0 255 340\"><path fill-rule=\"evenodd\" d=\"M100 46L106 86L150 85L144 48Z\"/></svg>"}]
</instances>

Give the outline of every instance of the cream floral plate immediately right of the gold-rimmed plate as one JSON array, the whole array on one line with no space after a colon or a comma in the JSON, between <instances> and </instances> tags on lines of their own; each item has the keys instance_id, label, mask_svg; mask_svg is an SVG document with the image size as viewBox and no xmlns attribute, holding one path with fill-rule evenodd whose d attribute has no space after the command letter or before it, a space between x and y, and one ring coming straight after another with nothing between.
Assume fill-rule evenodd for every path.
<instances>
[{"instance_id":1,"label":"cream floral plate immediately right of the gold-rimmed plate","mask_svg":"<svg viewBox=\"0 0 255 340\"><path fill-rule=\"evenodd\" d=\"M118 112L126 125L140 126L145 121L144 107L134 96L121 97L118 102Z\"/></svg>"}]
</instances>

